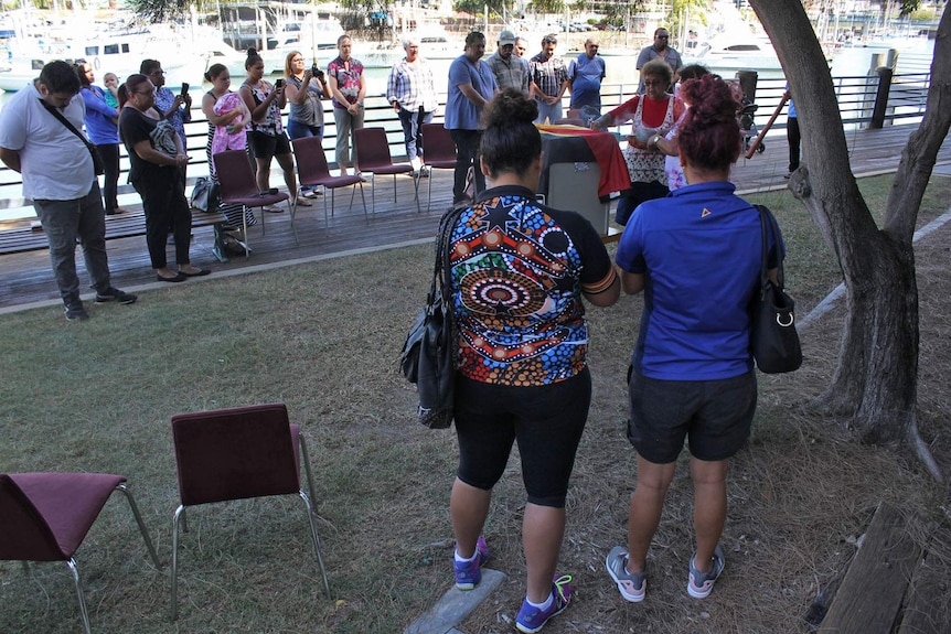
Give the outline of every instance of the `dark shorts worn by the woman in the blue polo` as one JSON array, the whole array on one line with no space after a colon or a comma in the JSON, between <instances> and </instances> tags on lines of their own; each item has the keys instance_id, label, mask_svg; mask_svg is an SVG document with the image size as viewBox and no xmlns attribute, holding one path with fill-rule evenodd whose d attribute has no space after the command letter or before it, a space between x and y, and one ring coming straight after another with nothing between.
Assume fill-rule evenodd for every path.
<instances>
[{"instance_id":1,"label":"dark shorts worn by the woman in the blue polo","mask_svg":"<svg viewBox=\"0 0 951 634\"><path fill-rule=\"evenodd\" d=\"M628 440L645 460L674 462L688 439L691 455L726 460L749 438L756 374L719 380L660 380L631 374Z\"/></svg>"}]
</instances>

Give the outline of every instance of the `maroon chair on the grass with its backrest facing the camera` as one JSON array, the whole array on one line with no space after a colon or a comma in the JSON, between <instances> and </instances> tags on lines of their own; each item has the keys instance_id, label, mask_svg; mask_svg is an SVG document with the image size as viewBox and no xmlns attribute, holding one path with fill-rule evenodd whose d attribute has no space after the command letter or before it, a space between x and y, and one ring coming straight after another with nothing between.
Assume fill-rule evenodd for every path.
<instances>
[{"instance_id":1,"label":"maroon chair on the grass with its backrest facing the camera","mask_svg":"<svg viewBox=\"0 0 951 634\"><path fill-rule=\"evenodd\" d=\"M271 404L178 413L172 417L172 440L182 502L172 519L172 619L178 616L179 524L188 530L185 508L214 502L299 495L307 507L313 549L330 598L311 504L310 459L300 427L288 420L287 407ZM301 487L301 454L310 496Z\"/></svg>"}]
</instances>

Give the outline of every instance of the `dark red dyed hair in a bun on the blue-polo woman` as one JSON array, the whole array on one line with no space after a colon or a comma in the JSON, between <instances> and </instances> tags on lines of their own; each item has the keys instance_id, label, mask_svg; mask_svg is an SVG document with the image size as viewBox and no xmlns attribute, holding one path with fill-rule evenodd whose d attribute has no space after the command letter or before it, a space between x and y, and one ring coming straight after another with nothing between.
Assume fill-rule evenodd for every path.
<instances>
[{"instance_id":1,"label":"dark red dyed hair in a bun on the blue-polo woman","mask_svg":"<svg viewBox=\"0 0 951 634\"><path fill-rule=\"evenodd\" d=\"M691 104L677 135L681 154L699 169L729 169L740 153L739 103L729 85L717 75L704 75L684 82L681 96Z\"/></svg>"}]
</instances>

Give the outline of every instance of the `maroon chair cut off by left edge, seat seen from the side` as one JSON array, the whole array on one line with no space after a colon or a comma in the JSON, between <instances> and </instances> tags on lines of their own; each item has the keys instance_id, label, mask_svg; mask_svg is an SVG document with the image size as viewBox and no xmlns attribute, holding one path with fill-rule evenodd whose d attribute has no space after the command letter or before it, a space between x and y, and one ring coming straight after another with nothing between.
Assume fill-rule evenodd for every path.
<instances>
[{"instance_id":1,"label":"maroon chair cut off by left edge, seat seen from the side","mask_svg":"<svg viewBox=\"0 0 951 634\"><path fill-rule=\"evenodd\" d=\"M121 475L106 473L0 474L0 560L65 561L73 573L86 634L92 632L79 570L73 555L114 491L129 501L156 568L152 540ZM29 568L28 568L29 571Z\"/></svg>"}]
</instances>

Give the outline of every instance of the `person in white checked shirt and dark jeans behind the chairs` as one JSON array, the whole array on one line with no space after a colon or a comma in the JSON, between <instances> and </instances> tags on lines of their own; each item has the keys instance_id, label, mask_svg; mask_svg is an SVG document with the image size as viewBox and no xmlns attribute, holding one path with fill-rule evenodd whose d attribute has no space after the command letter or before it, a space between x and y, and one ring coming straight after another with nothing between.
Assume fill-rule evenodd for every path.
<instances>
[{"instance_id":1,"label":"person in white checked shirt and dark jeans behind the chairs","mask_svg":"<svg viewBox=\"0 0 951 634\"><path fill-rule=\"evenodd\" d=\"M413 174L428 176L423 170L423 123L432 122L438 105L432 67L419 56L419 41L409 37L403 41L406 57L393 65L386 83L386 100L393 106L403 126L406 158L413 165Z\"/></svg>"}]
</instances>

